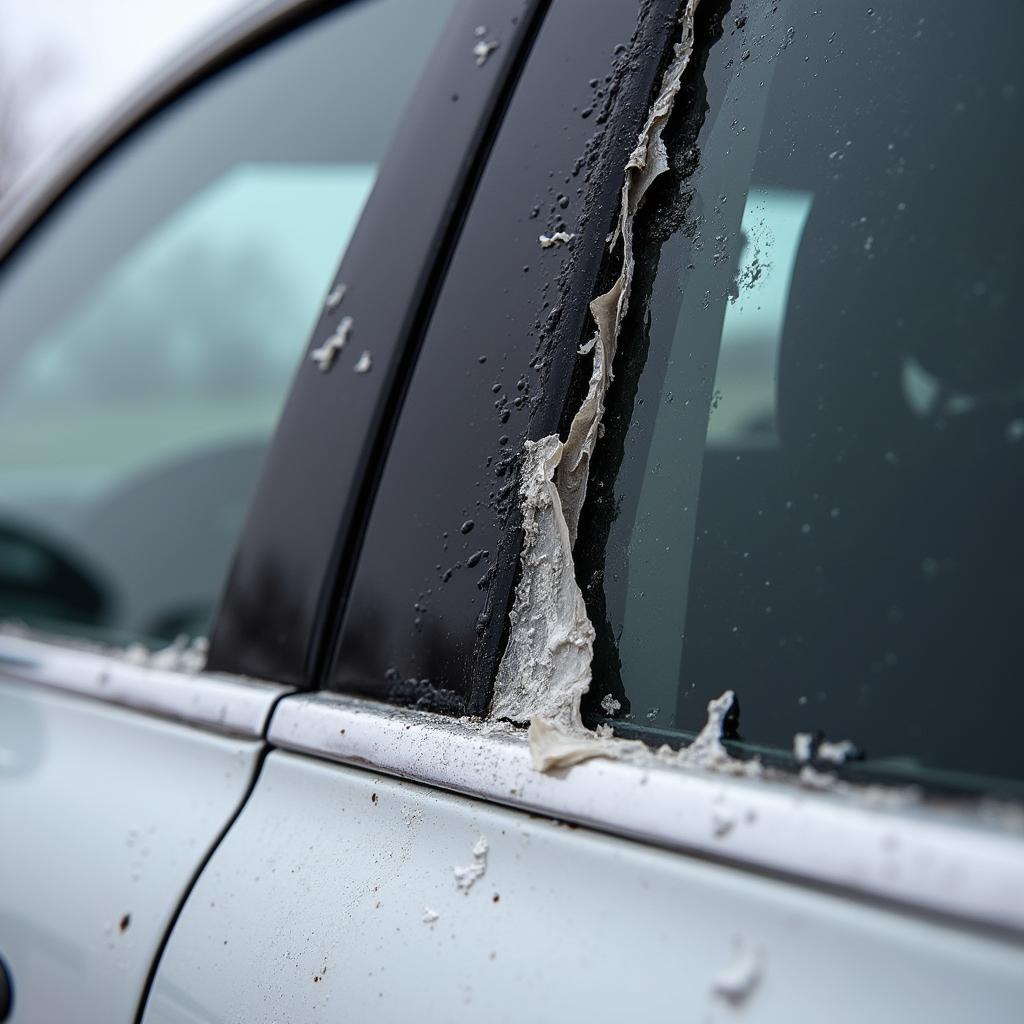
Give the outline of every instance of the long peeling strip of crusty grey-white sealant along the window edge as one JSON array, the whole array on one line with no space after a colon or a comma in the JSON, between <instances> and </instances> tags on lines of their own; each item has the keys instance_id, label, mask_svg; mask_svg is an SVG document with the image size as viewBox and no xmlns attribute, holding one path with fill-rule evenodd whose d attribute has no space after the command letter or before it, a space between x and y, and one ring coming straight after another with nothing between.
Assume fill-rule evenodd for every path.
<instances>
[{"instance_id":1,"label":"long peeling strip of crusty grey-white sealant along the window edge","mask_svg":"<svg viewBox=\"0 0 1024 1024\"><path fill-rule=\"evenodd\" d=\"M587 396L564 442L551 434L526 441L524 446L519 487L524 535L521 574L509 640L495 681L490 718L532 722L531 748L535 739L538 743L543 739L550 748L552 728L574 734L578 740L591 737L592 742L599 741L584 728L580 717L580 700L591 682L594 627L575 581L572 547L633 284L633 221L651 183L669 166L662 132L693 52L696 7L697 0L688 0L680 16L681 36L673 59L626 162L618 218L608 243L611 252L622 245L622 272L611 288L590 304L597 330L582 349L594 356ZM602 748L601 755L610 756L612 744L602 743ZM547 764L553 756L542 749L535 764Z\"/></svg>"}]
</instances>

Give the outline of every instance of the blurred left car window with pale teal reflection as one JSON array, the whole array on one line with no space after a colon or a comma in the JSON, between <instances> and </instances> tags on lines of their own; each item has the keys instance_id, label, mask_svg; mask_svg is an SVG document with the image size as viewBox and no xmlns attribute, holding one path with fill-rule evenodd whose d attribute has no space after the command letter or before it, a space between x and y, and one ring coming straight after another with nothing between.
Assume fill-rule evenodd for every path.
<instances>
[{"instance_id":1,"label":"blurred left car window with pale teal reflection","mask_svg":"<svg viewBox=\"0 0 1024 1024\"><path fill-rule=\"evenodd\" d=\"M242 59L130 135L8 259L0 617L118 640L206 632L450 7L348 4Z\"/></svg>"}]
</instances>

